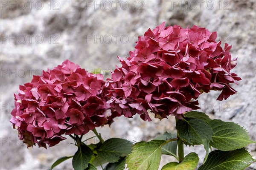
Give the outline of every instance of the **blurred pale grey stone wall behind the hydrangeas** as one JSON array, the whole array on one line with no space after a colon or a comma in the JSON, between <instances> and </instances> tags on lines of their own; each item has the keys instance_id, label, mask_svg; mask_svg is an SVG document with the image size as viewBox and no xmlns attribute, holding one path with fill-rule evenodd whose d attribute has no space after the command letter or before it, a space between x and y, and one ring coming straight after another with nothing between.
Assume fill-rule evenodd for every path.
<instances>
[{"instance_id":1,"label":"blurred pale grey stone wall behind the hydrangeas","mask_svg":"<svg viewBox=\"0 0 256 170\"><path fill-rule=\"evenodd\" d=\"M216 101L218 93L203 94L201 111L215 119L236 122L256 140L256 2L255 0L0 0L0 169L48 169L61 156L71 156L76 147L71 139L44 148L18 140L9 122L14 108L13 93L33 74L52 69L69 59L86 69L101 68L105 77L119 65L117 56L134 50L138 36L162 22L182 27L197 25L217 31L218 40L233 45L238 57L233 72L242 80L232 87L238 94L227 101ZM151 115L152 116L152 115ZM175 129L175 120L153 119L143 122L119 117L97 130L103 138L125 137L133 141L150 140ZM83 139L94 136L88 133ZM96 138L88 142L97 142ZM204 158L204 147L186 147ZM256 144L248 150L256 159ZM161 166L172 161L163 157ZM71 159L55 169L72 169ZM256 170L252 164L248 170Z\"/></svg>"}]
</instances>

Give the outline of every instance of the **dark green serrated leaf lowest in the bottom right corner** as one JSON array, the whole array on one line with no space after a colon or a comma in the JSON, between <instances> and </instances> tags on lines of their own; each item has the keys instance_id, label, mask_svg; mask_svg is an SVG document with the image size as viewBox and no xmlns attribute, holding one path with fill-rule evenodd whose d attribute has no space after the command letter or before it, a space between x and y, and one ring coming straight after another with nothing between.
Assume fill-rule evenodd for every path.
<instances>
[{"instance_id":1,"label":"dark green serrated leaf lowest in the bottom right corner","mask_svg":"<svg viewBox=\"0 0 256 170\"><path fill-rule=\"evenodd\" d=\"M244 170L254 161L245 148L231 151L214 150L198 170Z\"/></svg>"}]
</instances>

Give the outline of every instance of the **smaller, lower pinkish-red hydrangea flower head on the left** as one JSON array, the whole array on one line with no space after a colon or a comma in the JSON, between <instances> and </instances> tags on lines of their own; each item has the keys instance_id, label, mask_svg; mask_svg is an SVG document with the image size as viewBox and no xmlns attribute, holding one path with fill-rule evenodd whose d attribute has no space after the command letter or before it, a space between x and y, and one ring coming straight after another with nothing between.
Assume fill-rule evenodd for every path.
<instances>
[{"instance_id":1,"label":"smaller, lower pinkish-red hydrangea flower head on the left","mask_svg":"<svg viewBox=\"0 0 256 170\"><path fill-rule=\"evenodd\" d=\"M51 147L66 139L64 133L82 135L111 124L118 114L111 113L107 92L102 74L88 73L66 60L20 85L10 122L28 147Z\"/></svg>"}]
</instances>

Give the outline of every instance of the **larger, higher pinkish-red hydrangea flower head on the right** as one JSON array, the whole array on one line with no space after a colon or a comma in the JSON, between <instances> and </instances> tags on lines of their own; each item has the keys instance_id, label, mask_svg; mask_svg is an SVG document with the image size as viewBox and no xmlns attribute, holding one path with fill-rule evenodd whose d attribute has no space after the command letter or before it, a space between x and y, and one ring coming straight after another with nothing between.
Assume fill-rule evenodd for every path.
<instances>
[{"instance_id":1,"label":"larger, higher pinkish-red hydrangea flower head on the right","mask_svg":"<svg viewBox=\"0 0 256 170\"><path fill-rule=\"evenodd\" d=\"M221 91L218 100L227 99L236 91L230 83L241 80L230 70L236 66L227 44L216 42L216 32L192 26L148 29L139 37L134 51L113 71L109 101L118 113L132 117L140 114L151 120L147 110L156 118L198 109L203 92Z\"/></svg>"}]
</instances>

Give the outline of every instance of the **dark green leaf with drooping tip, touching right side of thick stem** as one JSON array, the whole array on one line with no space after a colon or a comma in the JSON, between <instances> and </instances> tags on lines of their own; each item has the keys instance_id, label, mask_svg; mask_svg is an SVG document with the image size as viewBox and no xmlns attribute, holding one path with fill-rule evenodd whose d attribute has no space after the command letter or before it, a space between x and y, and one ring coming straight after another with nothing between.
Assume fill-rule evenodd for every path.
<instances>
[{"instance_id":1,"label":"dark green leaf with drooping tip, touching right side of thick stem","mask_svg":"<svg viewBox=\"0 0 256 170\"><path fill-rule=\"evenodd\" d=\"M178 136L189 144L204 144L205 160L209 154L209 142L212 141L212 128L203 120L192 117L178 120L176 124Z\"/></svg>"}]
</instances>

